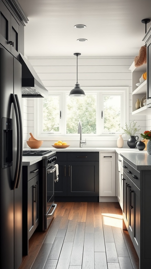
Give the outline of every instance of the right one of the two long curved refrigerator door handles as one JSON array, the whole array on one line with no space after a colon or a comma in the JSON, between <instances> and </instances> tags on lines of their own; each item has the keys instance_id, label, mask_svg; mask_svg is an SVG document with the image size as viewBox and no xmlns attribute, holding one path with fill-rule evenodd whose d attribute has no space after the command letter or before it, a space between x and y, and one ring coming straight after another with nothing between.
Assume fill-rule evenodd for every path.
<instances>
[{"instance_id":1,"label":"right one of the two long curved refrigerator door handles","mask_svg":"<svg viewBox=\"0 0 151 269\"><path fill-rule=\"evenodd\" d=\"M22 155L23 155L23 128L22 128L22 120L21 120L21 109L19 105L19 99L17 94L15 94L17 108L18 108L18 114L19 114L19 126L20 126L20 148L17 148L17 151L20 151L20 157L19 157L19 171L18 171L18 178L16 183L16 189L19 187L20 183L20 177L21 177L21 171L22 171Z\"/></svg>"}]
</instances>

